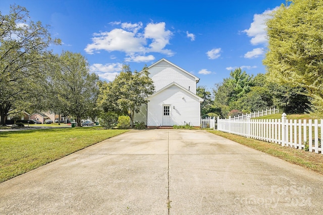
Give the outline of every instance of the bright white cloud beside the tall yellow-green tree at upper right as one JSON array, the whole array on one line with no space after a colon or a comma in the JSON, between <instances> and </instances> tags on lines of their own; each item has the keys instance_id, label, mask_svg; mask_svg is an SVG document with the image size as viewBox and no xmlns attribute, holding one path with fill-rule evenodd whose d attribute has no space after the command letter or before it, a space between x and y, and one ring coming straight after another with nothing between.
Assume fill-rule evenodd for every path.
<instances>
[{"instance_id":1,"label":"bright white cloud beside the tall yellow-green tree at upper right","mask_svg":"<svg viewBox=\"0 0 323 215\"><path fill-rule=\"evenodd\" d=\"M249 37L252 37L250 42L252 45L266 44L266 25L267 19L270 19L270 14L275 11L278 7L273 10L266 10L262 14L253 15L253 22L249 29L243 30Z\"/></svg>"}]
</instances>

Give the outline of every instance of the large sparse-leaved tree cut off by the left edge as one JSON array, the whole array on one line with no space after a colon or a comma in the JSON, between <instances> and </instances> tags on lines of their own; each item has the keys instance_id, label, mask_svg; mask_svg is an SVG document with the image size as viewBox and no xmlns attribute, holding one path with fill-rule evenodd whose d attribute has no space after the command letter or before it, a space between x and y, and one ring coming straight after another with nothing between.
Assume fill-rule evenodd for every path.
<instances>
[{"instance_id":1,"label":"large sparse-leaved tree cut off by the left edge","mask_svg":"<svg viewBox=\"0 0 323 215\"><path fill-rule=\"evenodd\" d=\"M0 12L0 117L1 125L11 111L21 111L37 104L44 89L50 44L48 26L30 20L28 11L11 6L10 14Z\"/></svg>"}]
</instances>

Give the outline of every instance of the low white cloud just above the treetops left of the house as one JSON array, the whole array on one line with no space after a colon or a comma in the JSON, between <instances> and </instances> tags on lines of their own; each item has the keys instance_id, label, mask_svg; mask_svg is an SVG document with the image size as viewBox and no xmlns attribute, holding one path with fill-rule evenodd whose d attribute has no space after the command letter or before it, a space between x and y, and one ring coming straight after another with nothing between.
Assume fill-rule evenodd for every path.
<instances>
[{"instance_id":1,"label":"low white cloud just above the treetops left of the house","mask_svg":"<svg viewBox=\"0 0 323 215\"><path fill-rule=\"evenodd\" d=\"M95 73L100 78L112 82L122 70L122 63L107 63L104 65L100 63L94 63L90 65L89 68L92 73Z\"/></svg>"}]
</instances>

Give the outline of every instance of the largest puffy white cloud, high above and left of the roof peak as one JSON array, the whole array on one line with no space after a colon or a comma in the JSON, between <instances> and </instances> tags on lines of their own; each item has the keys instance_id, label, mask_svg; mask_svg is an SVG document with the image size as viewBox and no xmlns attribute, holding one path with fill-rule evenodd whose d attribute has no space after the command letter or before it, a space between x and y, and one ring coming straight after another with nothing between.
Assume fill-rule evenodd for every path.
<instances>
[{"instance_id":1,"label":"largest puffy white cloud, high above and left of the roof peak","mask_svg":"<svg viewBox=\"0 0 323 215\"><path fill-rule=\"evenodd\" d=\"M121 24L121 28L115 28L110 32L93 33L92 43L87 44L84 49L88 54L100 50L121 51L128 56L127 60L132 59L132 56L144 56L149 52L163 53L168 56L174 55L172 50L165 49L166 45L170 43L173 33L166 30L164 22L149 23L144 29L142 29L141 22L134 24L112 22L110 24ZM148 55L145 58L150 60L151 56Z\"/></svg>"}]
</instances>

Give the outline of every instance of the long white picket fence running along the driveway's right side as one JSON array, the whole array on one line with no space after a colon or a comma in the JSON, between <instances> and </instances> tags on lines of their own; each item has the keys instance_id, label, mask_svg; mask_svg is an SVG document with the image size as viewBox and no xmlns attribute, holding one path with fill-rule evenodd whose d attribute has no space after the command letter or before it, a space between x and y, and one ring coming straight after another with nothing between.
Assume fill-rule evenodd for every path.
<instances>
[{"instance_id":1,"label":"long white picket fence running along the driveway's right side","mask_svg":"<svg viewBox=\"0 0 323 215\"><path fill-rule=\"evenodd\" d=\"M218 117L218 130L248 138L275 142L281 146L303 149L308 145L309 152L321 153L323 139L323 119L303 121L287 120L286 114L281 119L247 119L232 120Z\"/></svg>"}]
</instances>

